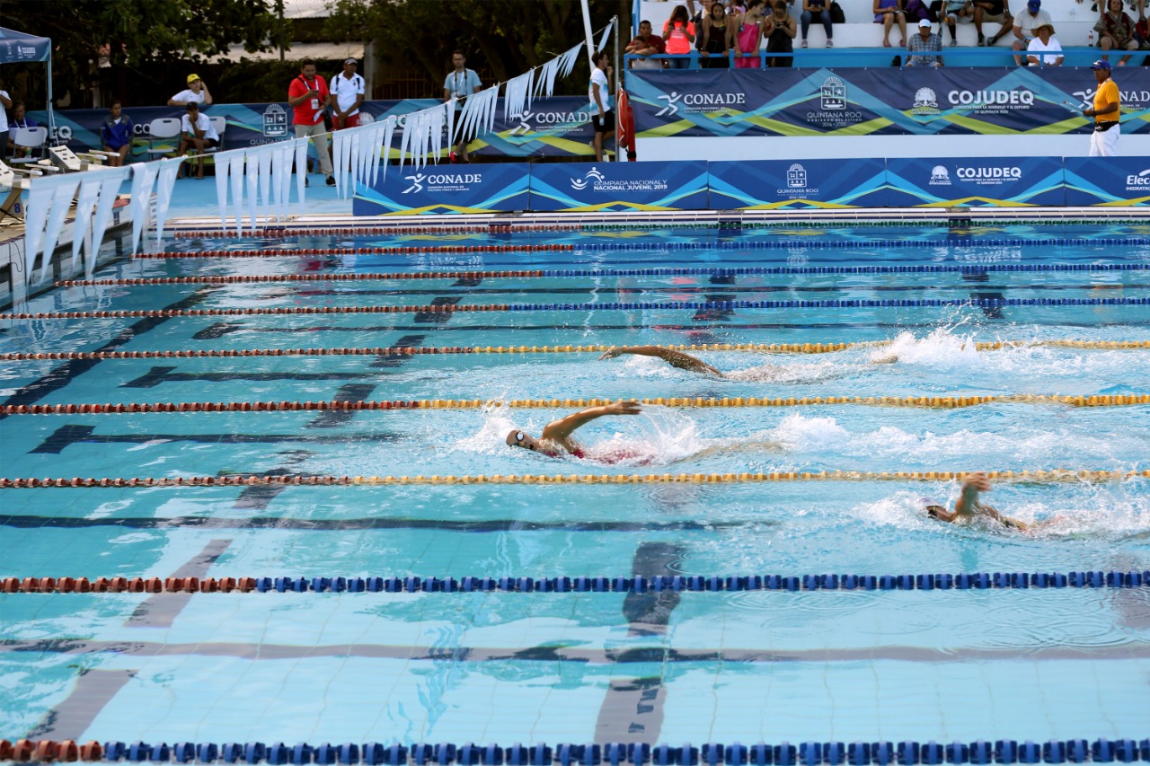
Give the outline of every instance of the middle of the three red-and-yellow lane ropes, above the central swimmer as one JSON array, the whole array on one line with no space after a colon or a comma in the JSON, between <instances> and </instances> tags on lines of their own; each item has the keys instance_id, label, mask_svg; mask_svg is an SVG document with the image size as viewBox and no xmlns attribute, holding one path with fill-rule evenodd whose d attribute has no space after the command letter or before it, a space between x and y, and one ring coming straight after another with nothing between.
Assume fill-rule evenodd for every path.
<instances>
[{"instance_id":1,"label":"middle of the three red-and-yellow lane ropes, above the central swimmer","mask_svg":"<svg viewBox=\"0 0 1150 766\"><path fill-rule=\"evenodd\" d=\"M330 401L152 401L129 404L57 404L5 405L3 415L135 415L156 413L221 412L391 412L396 409L555 409L598 407L622 399L393 399ZM1051 393L1007 393L968 397L656 397L634 399L641 405L662 407L730 408L730 407L811 407L859 405L864 407L913 407L920 409L957 409L988 404L1065 405L1071 407L1129 407L1150 404L1150 393L1105 393L1060 396Z\"/></svg>"}]
</instances>

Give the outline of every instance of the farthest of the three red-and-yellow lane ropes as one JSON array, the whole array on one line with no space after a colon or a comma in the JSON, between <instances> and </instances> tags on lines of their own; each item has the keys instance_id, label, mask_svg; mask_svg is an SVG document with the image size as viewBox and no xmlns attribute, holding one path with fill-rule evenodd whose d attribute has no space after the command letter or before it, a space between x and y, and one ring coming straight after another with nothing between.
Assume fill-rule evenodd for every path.
<instances>
[{"instance_id":1,"label":"farthest of the three red-and-yellow lane ropes","mask_svg":"<svg viewBox=\"0 0 1150 766\"><path fill-rule=\"evenodd\" d=\"M422 340L422 337L421 337ZM335 348L223 348L179 351L62 351L62 352L13 352L0 354L0 361L57 360L57 359L239 359L244 357L379 357L398 359L432 354L572 354L603 353L616 345L557 345L557 346L417 346L404 338L394 346L335 347ZM864 340L858 343L680 343L660 344L659 348L672 351L737 351L751 353L826 354L848 348L884 347L894 340ZM975 351L1003 351L1015 348L1080 348L1090 351L1129 351L1150 348L1150 340L980 340Z\"/></svg>"}]
</instances>

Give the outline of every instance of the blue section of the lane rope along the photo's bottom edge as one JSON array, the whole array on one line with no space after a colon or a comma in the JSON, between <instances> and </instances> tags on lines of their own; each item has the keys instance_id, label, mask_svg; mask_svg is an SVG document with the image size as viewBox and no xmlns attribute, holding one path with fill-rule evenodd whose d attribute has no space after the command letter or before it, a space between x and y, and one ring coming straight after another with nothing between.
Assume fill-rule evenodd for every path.
<instances>
[{"instance_id":1,"label":"blue section of the lane rope along the photo's bottom edge","mask_svg":"<svg viewBox=\"0 0 1150 766\"><path fill-rule=\"evenodd\" d=\"M734 742L723 745L708 742L702 746L690 743L682 745L649 743L606 744L560 743L553 748L546 744L500 746L466 743L415 743L409 748L401 744L379 742L320 744L282 742L229 742L222 745L177 742L148 744L145 742L107 742L103 745L106 760L116 763L177 763L187 764L269 764L304 766L305 764L366 764L368 766L599 766L610 764L632 764L635 766L942 766L943 764L1130 764L1150 761L1150 740L1050 740L1034 742L1026 740L976 740L974 742L789 742L744 745Z\"/></svg>"}]
</instances>

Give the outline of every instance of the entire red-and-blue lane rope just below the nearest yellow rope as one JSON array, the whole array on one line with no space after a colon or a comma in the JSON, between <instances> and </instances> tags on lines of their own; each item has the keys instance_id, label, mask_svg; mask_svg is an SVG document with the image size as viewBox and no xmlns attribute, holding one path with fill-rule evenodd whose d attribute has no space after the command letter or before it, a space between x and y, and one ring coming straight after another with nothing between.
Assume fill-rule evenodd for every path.
<instances>
[{"instance_id":1,"label":"entire red-and-blue lane rope just below the nearest yellow rope","mask_svg":"<svg viewBox=\"0 0 1150 766\"><path fill-rule=\"evenodd\" d=\"M975 572L959 574L654 575L634 577L3 577L0 593L646 593L747 590L1007 590L1147 588L1144 572Z\"/></svg>"}]
</instances>

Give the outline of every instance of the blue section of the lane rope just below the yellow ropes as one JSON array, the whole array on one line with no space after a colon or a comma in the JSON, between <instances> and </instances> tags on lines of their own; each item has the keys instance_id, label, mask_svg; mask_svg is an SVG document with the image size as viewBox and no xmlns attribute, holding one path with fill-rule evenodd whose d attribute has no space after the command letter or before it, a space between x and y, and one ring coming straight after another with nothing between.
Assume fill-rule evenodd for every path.
<instances>
[{"instance_id":1,"label":"blue section of the lane rope just below the yellow ropes","mask_svg":"<svg viewBox=\"0 0 1150 766\"><path fill-rule=\"evenodd\" d=\"M657 575L653 577L256 577L255 590L264 592L514 592L514 593L616 593L659 591L749 590L1003 590L1045 588L1148 588L1144 572L975 572L963 574L902 575Z\"/></svg>"}]
</instances>

